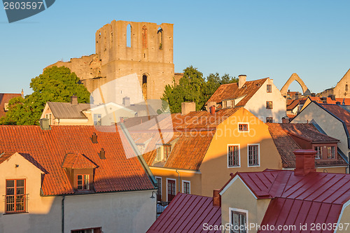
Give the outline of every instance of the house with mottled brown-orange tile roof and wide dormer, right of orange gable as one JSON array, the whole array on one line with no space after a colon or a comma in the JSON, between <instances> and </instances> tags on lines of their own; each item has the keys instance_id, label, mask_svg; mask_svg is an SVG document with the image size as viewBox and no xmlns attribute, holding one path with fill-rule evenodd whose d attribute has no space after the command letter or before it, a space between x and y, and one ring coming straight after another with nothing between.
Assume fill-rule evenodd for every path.
<instances>
[{"instance_id":1,"label":"house with mottled brown-orange tile roof and wide dormer, right of orange gable","mask_svg":"<svg viewBox=\"0 0 350 233\"><path fill-rule=\"evenodd\" d=\"M293 151L300 149L316 150L316 171L346 173L347 157L338 150L338 139L318 132L312 124L307 123L267 123L269 133L281 155L283 169L295 169Z\"/></svg>"}]
</instances>

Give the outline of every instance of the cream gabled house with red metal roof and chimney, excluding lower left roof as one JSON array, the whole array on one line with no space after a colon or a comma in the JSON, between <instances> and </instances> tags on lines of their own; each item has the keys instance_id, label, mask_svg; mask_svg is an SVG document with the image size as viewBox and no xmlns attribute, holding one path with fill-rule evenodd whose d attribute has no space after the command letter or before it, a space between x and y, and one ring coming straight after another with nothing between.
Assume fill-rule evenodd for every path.
<instances>
[{"instance_id":1,"label":"cream gabled house with red metal roof and chimney, excluding lower left roof","mask_svg":"<svg viewBox=\"0 0 350 233\"><path fill-rule=\"evenodd\" d=\"M349 231L350 175L316 172L315 155L296 150L294 171L232 175L219 191L221 224L250 233Z\"/></svg>"}]
</instances>

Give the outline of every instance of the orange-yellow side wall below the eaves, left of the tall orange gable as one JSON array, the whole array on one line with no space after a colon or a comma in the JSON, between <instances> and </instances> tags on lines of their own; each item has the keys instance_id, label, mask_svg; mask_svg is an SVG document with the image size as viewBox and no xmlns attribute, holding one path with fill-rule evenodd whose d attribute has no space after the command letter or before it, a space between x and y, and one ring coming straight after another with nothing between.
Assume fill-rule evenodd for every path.
<instances>
[{"instance_id":1,"label":"orange-yellow side wall below the eaves, left of the tall orange gable","mask_svg":"<svg viewBox=\"0 0 350 233\"><path fill-rule=\"evenodd\" d=\"M158 167L150 167L153 176L156 178L162 178L162 202L167 202L167 178L172 178L176 180L176 193L179 192L179 176L180 176L180 192L183 192L182 181L190 181L190 193L193 195L201 195L202 174L195 171L184 171L177 170L179 174L176 173L176 169L163 169Z\"/></svg>"}]
</instances>

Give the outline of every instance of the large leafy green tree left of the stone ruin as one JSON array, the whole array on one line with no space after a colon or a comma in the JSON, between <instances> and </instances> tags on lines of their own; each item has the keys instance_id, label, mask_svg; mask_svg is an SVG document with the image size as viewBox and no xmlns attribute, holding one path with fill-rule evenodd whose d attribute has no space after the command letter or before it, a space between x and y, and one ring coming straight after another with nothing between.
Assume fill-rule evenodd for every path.
<instances>
[{"instance_id":1,"label":"large leafy green tree left of the stone ruin","mask_svg":"<svg viewBox=\"0 0 350 233\"><path fill-rule=\"evenodd\" d=\"M79 83L76 73L64 66L52 66L45 69L36 78L31 79L33 93L24 99L16 97L9 101L9 111L0 118L0 125L38 125L43 108L48 101L69 102L75 94L79 103L89 103L90 92Z\"/></svg>"}]
</instances>

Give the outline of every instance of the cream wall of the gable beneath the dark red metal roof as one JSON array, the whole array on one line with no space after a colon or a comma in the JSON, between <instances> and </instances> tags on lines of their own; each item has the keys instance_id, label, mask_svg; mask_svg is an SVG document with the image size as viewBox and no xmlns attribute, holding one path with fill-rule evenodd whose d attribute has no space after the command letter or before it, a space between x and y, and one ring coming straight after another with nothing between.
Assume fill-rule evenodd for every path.
<instances>
[{"instance_id":1,"label":"cream wall of the gable beneath the dark red metal roof","mask_svg":"<svg viewBox=\"0 0 350 233\"><path fill-rule=\"evenodd\" d=\"M248 224L260 225L264 218L267 207L271 199L255 199L240 178L230 185L223 195L221 195L221 223L230 224L230 208L243 209L248 211ZM224 232L224 231L223 231ZM251 229L249 233L255 233Z\"/></svg>"}]
</instances>

